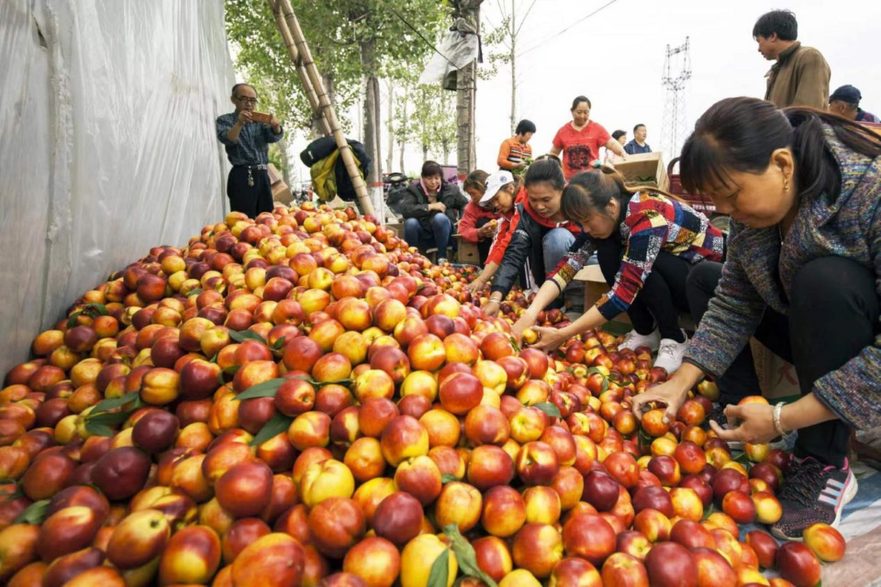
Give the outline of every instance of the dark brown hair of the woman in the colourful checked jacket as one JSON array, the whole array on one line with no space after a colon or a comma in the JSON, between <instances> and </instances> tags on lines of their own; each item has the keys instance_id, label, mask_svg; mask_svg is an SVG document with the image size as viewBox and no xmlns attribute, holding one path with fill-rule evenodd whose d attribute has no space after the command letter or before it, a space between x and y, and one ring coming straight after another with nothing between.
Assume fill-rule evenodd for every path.
<instances>
[{"instance_id":1,"label":"dark brown hair of the woman in the colourful checked jacket","mask_svg":"<svg viewBox=\"0 0 881 587\"><path fill-rule=\"evenodd\" d=\"M583 222L593 214L608 216L606 207L612 200L619 204L619 218L627 211L627 203L636 190L624 185L624 178L611 167L583 171L569 180L560 200L560 213L572 222Z\"/></svg>"}]
</instances>

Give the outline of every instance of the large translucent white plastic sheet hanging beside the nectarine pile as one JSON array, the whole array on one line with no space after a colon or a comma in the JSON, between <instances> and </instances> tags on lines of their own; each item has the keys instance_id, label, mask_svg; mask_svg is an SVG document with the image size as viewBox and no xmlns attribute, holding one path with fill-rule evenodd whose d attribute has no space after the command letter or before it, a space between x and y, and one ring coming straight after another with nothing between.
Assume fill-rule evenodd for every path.
<instances>
[{"instance_id":1,"label":"large translucent white plastic sheet hanging beside the nectarine pile","mask_svg":"<svg viewBox=\"0 0 881 587\"><path fill-rule=\"evenodd\" d=\"M0 377L84 291L228 209L223 0L0 0Z\"/></svg>"}]
</instances>

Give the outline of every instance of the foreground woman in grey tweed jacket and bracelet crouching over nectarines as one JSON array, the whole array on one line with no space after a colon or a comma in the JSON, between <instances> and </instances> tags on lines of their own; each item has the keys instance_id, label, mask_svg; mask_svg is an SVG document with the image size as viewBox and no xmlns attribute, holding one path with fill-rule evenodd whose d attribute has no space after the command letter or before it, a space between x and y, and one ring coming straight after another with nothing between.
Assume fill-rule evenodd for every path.
<instances>
[{"instance_id":1,"label":"foreground woman in grey tweed jacket and bracelet crouching over nectarines","mask_svg":"<svg viewBox=\"0 0 881 587\"><path fill-rule=\"evenodd\" d=\"M718 287L703 283L715 297L682 367L633 410L659 402L672 419L703 377L733 374L751 336L791 360L801 399L729 405L737 426L710 425L751 443L798 430L772 532L800 538L836 524L856 494L851 429L881 426L881 137L827 112L730 98L698 120L680 168L689 192L730 214L728 256ZM702 269L690 281L706 282L713 265Z\"/></svg>"}]
</instances>

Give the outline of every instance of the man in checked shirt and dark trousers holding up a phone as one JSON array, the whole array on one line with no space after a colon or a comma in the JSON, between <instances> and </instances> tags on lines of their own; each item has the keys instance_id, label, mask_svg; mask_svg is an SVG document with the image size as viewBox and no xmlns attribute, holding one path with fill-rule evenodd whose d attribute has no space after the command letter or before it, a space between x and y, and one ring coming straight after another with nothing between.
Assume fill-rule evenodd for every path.
<instances>
[{"instance_id":1,"label":"man in checked shirt and dark trousers holding up a phone","mask_svg":"<svg viewBox=\"0 0 881 587\"><path fill-rule=\"evenodd\" d=\"M271 117L269 124L251 118L257 106L257 92L248 84L236 84L230 100L235 112L217 117L217 139L226 147L232 164L226 182L226 195L233 212L254 218L272 211L272 183L269 180L269 143L284 136L281 123Z\"/></svg>"}]
</instances>

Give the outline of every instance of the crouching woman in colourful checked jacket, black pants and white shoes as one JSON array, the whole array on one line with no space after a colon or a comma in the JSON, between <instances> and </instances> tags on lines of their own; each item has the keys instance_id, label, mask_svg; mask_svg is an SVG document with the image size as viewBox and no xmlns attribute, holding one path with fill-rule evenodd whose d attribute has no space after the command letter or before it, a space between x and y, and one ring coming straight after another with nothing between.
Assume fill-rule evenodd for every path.
<instances>
[{"instance_id":1,"label":"crouching woman in colourful checked jacket, black pants and white shoes","mask_svg":"<svg viewBox=\"0 0 881 587\"><path fill-rule=\"evenodd\" d=\"M655 366L675 371L687 348L679 328L679 312L689 311L686 279L701 261L722 260L722 233L706 216L672 196L627 188L609 167L573 177L563 191L561 211L581 224L583 232L514 325L514 335L521 336L535 324L538 313L596 252L612 290L569 326L537 328L541 339L535 346L554 349L627 312L633 331L621 346L658 350Z\"/></svg>"}]
</instances>

